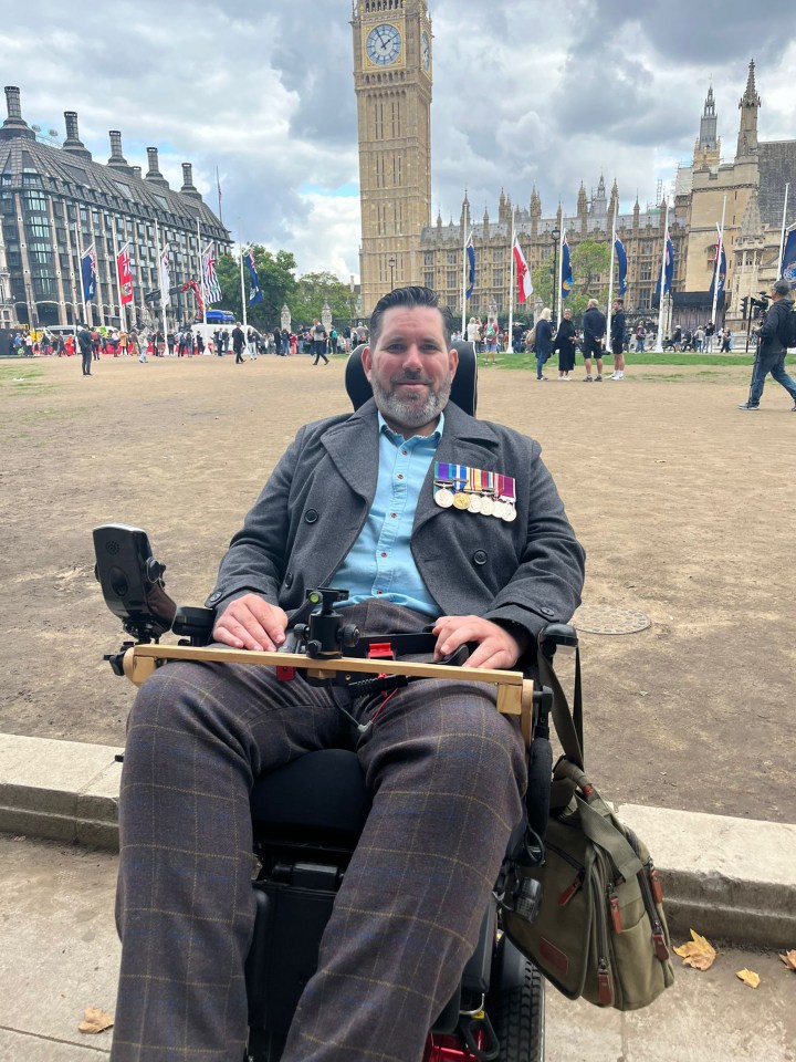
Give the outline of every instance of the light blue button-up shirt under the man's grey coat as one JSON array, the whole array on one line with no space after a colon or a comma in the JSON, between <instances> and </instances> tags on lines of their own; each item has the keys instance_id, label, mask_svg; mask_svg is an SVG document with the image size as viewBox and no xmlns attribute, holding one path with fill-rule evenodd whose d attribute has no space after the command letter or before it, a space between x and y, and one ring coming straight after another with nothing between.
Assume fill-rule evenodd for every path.
<instances>
[{"instance_id":1,"label":"light blue button-up shirt under the man's grey coat","mask_svg":"<svg viewBox=\"0 0 796 1062\"><path fill-rule=\"evenodd\" d=\"M431 597L411 552L411 529L420 491L444 429L440 414L431 435L405 439L379 421L379 473L370 512L359 538L334 576L349 591L341 606L380 597L436 620L440 607Z\"/></svg>"}]
</instances>

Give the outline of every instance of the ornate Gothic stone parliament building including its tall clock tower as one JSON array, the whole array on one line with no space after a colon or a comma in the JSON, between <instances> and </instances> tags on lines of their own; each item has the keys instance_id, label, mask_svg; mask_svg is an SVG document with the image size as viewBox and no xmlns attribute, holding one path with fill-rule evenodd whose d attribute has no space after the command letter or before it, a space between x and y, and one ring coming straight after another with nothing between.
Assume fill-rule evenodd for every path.
<instances>
[{"instance_id":1,"label":"ornate Gothic stone parliament building including its tall clock tower","mask_svg":"<svg viewBox=\"0 0 796 1062\"><path fill-rule=\"evenodd\" d=\"M357 95L362 205L362 304L368 314L390 283L422 283L461 312L463 246L472 232L475 288L468 313L490 309L507 314L512 214L515 235L532 270L552 264L554 229L570 249L584 240L608 244L619 202L616 179L604 176L587 194L580 185L574 212L561 204L545 210L536 188L530 201L513 204L501 191L498 208L476 218L464 191L457 220L431 219L432 32L426 0L354 0L354 83ZM796 222L796 140L764 143L757 137L762 106L750 63L739 103L732 160L722 159L719 115L712 87L699 123L693 158L673 176L669 232L674 246L670 320L684 327L711 316L716 226L724 209L727 274L719 316L741 327L741 300L758 294L778 269L785 186L786 223ZM617 236L628 256L625 305L631 315L657 313L666 204L618 212ZM577 283L577 277L575 278ZM608 277L600 278L607 288Z\"/></svg>"}]
</instances>

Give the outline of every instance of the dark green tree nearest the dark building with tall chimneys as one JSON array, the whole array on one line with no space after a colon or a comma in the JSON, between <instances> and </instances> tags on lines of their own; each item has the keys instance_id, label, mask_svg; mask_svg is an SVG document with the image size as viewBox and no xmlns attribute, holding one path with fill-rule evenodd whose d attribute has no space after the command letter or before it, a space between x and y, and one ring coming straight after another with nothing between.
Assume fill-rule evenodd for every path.
<instances>
[{"instance_id":1,"label":"dark green tree nearest the dark building with tall chimneys","mask_svg":"<svg viewBox=\"0 0 796 1062\"><path fill-rule=\"evenodd\" d=\"M275 329L280 323L280 314L285 303L290 306L293 299L296 280L294 277L295 259L290 251L276 251L272 254L264 247L255 243L254 268L260 281L263 298L261 302L248 302L251 291L249 269L243 263L243 283L247 298L247 321L255 329ZM243 320L243 303L241 301L241 271L240 258L232 254L222 254L218 260L217 273L223 299L218 309L229 310L237 321Z\"/></svg>"}]
</instances>

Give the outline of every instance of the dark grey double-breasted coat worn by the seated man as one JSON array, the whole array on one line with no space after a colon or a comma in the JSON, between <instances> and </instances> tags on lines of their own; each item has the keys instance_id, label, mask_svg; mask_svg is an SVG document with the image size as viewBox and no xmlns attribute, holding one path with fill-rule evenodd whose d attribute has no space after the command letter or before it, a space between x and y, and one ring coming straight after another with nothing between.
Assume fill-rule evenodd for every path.
<instances>
[{"instance_id":1,"label":"dark grey double-breasted coat worn by the seated man","mask_svg":"<svg viewBox=\"0 0 796 1062\"><path fill-rule=\"evenodd\" d=\"M376 492L378 430L373 399L300 429L233 535L208 607L220 612L254 593L290 614L307 590L334 584ZM540 454L519 431L446 407L434 460L513 477L517 519L439 508L432 460L411 550L440 615L517 624L533 637L578 606L584 550Z\"/></svg>"}]
</instances>

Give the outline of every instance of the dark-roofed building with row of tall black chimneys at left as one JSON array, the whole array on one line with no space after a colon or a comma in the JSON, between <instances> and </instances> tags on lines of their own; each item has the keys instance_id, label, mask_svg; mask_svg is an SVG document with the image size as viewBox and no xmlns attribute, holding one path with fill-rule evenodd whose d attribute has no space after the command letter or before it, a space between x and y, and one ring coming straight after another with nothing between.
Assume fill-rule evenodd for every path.
<instances>
[{"instance_id":1,"label":"dark-roofed building with row of tall black chimneys at left","mask_svg":"<svg viewBox=\"0 0 796 1062\"><path fill-rule=\"evenodd\" d=\"M179 191L159 171L158 150L147 148L148 168L128 165L122 134L112 131L107 164L94 162L81 142L77 115L67 111L61 147L42 143L22 117L20 91L6 88L8 117L0 126L0 321L73 325L84 320L81 254L96 249L97 292L88 323L128 327L158 322L160 303L156 223L168 244L170 281L198 280L199 243L217 253L231 248L230 233L193 186L184 163ZM130 243L134 302L122 312L116 254ZM2 298L4 296L4 302ZM171 298L167 323L192 316L188 294Z\"/></svg>"}]
</instances>

